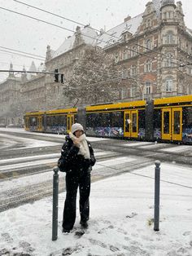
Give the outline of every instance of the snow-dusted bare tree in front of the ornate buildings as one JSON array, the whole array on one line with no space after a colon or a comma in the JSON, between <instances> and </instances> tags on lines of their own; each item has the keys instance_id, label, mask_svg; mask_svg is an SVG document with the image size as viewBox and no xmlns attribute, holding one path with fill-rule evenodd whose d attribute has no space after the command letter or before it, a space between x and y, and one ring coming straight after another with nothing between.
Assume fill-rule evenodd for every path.
<instances>
[{"instance_id":1,"label":"snow-dusted bare tree in front of the ornate buildings","mask_svg":"<svg viewBox=\"0 0 192 256\"><path fill-rule=\"evenodd\" d=\"M65 83L64 95L78 104L98 104L118 99L120 75L114 61L101 48L88 48Z\"/></svg>"}]
</instances>

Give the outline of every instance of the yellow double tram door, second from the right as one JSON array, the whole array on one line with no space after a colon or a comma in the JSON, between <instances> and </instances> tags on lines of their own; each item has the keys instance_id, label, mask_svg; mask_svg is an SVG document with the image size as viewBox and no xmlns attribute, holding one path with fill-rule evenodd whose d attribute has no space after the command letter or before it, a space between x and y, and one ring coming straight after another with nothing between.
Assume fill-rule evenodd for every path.
<instances>
[{"instance_id":1,"label":"yellow double tram door, second from the right","mask_svg":"<svg viewBox=\"0 0 192 256\"><path fill-rule=\"evenodd\" d=\"M138 111L129 110L124 112L124 137L138 137Z\"/></svg>"}]
</instances>

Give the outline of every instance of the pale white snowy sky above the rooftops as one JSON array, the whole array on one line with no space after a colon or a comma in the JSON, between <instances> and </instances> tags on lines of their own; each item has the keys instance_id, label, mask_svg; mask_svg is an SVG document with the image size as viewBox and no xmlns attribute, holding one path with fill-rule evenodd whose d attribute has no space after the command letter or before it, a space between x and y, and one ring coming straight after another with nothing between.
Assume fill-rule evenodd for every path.
<instances>
[{"instance_id":1,"label":"pale white snowy sky above the rooftops","mask_svg":"<svg viewBox=\"0 0 192 256\"><path fill-rule=\"evenodd\" d=\"M28 5L62 15L70 20L81 24L90 24L94 29L111 29L117 24L123 23L127 15L132 17L142 13L148 1L144 0L20 0ZM192 2L182 0L183 11L185 14L185 24L192 29ZM0 0L0 7L12 11L31 15L37 19L46 20L57 24L66 29L74 31L75 23L63 20L42 11L37 11L31 7L26 7L14 0ZM53 50L59 48L65 38L72 35L71 31L60 29L50 24L41 23L37 20L31 20L27 17L0 9L0 46L24 51L33 55L46 55L46 46L50 45ZM21 55L13 55L5 51L10 51L0 47L0 70L9 69L10 63L15 70L28 69L32 63L36 66L43 60L34 60L25 58ZM0 73L0 82L7 78L7 73Z\"/></svg>"}]
</instances>

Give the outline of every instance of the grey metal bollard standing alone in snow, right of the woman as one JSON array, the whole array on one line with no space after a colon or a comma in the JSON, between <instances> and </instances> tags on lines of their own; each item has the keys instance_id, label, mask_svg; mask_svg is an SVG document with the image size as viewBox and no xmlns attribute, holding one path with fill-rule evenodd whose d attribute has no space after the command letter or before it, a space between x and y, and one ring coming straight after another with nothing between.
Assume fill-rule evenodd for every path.
<instances>
[{"instance_id":1,"label":"grey metal bollard standing alone in snow, right of the woman","mask_svg":"<svg viewBox=\"0 0 192 256\"><path fill-rule=\"evenodd\" d=\"M155 161L155 208L154 230L159 231L159 191L160 191L160 161Z\"/></svg>"}]
</instances>

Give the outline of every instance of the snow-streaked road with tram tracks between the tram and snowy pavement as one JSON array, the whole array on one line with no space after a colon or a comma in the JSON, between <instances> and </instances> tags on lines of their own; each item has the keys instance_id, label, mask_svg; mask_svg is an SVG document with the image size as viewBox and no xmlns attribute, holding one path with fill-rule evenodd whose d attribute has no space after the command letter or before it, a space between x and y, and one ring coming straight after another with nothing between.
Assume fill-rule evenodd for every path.
<instances>
[{"instance_id":1,"label":"snow-streaked road with tram tracks between the tram and snowy pavement","mask_svg":"<svg viewBox=\"0 0 192 256\"><path fill-rule=\"evenodd\" d=\"M52 194L53 167L63 144L63 135L41 135L23 130L0 130L0 211L33 202ZM132 172L155 160L190 167L190 145L148 143L119 139L89 138L97 164L92 182ZM64 187L59 174L59 191Z\"/></svg>"}]
</instances>

